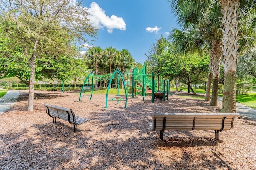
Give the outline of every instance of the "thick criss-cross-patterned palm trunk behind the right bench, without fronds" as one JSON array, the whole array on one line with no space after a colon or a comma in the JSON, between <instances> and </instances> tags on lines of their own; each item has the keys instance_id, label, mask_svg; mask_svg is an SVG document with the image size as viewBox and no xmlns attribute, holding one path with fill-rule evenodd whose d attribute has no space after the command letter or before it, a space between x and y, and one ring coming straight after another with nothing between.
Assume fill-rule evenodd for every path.
<instances>
[{"instance_id":1,"label":"thick criss-cross-patterned palm trunk behind the right bench, without fronds","mask_svg":"<svg viewBox=\"0 0 256 170\"><path fill-rule=\"evenodd\" d=\"M238 8L239 0L220 0L223 24L224 87L221 112L236 112L236 65L239 49Z\"/></svg>"}]
</instances>

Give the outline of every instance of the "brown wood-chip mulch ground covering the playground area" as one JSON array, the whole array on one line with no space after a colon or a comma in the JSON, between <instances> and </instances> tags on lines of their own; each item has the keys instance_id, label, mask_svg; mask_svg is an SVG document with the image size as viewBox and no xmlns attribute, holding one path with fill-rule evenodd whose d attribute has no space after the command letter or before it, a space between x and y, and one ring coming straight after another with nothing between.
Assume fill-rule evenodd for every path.
<instances>
[{"instance_id":1,"label":"brown wood-chip mulch ground covering the playground area","mask_svg":"<svg viewBox=\"0 0 256 170\"><path fill-rule=\"evenodd\" d=\"M18 101L0 115L1 169L256 169L256 123L236 118L231 130L166 131L164 141L148 122L156 112L220 112L208 101L170 93L165 102L128 97L110 102L106 95L82 99L74 92L36 91L34 111L27 109L28 91L20 91ZM114 97L114 95L109 95ZM42 103L71 108L90 119L73 132L67 121L46 114ZM219 157L217 157L218 155Z\"/></svg>"}]
</instances>

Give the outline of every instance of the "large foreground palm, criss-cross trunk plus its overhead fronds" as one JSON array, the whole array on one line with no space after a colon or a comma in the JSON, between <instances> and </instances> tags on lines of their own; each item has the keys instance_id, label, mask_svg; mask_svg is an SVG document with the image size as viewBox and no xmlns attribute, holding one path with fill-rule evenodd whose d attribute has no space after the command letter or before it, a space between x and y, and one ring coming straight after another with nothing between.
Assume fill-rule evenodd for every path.
<instances>
[{"instance_id":1,"label":"large foreground palm, criss-cross trunk plus its overhead fronds","mask_svg":"<svg viewBox=\"0 0 256 170\"><path fill-rule=\"evenodd\" d=\"M173 11L176 12L178 20L185 28L189 28L190 24L193 23L198 25L200 19L204 20L205 16L203 12L207 11L207 6L211 4L209 0L189 1L189 3L186 2L186 0L168 1L172 4L171 7ZM243 16L248 15L248 10L255 10L255 0L242 2L243 8L241 12L243 12ZM220 0L216 1L216 3L220 3L222 16L215 15L213 19L222 18L223 28L220 30L224 37L221 39L221 51L223 54L222 65L224 66L224 98L222 101L222 112L236 112L236 63L239 48L238 40L240 38L238 36L238 8L240 1ZM219 41L214 44L219 44Z\"/></svg>"}]
</instances>

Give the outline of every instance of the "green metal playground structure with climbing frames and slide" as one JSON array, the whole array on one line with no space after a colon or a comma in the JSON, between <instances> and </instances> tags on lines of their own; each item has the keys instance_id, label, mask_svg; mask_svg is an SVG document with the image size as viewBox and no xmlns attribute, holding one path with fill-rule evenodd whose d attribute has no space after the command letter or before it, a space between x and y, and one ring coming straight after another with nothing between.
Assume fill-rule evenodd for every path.
<instances>
[{"instance_id":1,"label":"green metal playground structure with climbing frames and slide","mask_svg":"<svg viewBox=\"0 0 256 170\"><path fill-rule=\"evenodd\" d=\"M154 80L154 72L152 72L152 74L146 74L146 65L140 70L137 67L130 70L127 69L127 73L121 73L118 68L114 73L107 75L94 75L90 72L82 86L79 101L81 101L82 96L90 96L90 100L92 99L92 94L95 89L94 83L96 81L109 81L106 92L106 108L108 107L108 101L117 101L117 103L119 103L119 101L124 100L119 95L120 79L124 85L125 108L127 107L127 96L134 98L137 97L138 94L141 94L143 100L145 100L147 95L152 95L152 103L154 103L155 98L159 98L161 102L162 99L165 101L165 98L168 100L168 94L170 92L169 81L160 80L159 73L156 76L157 80ZM124 77L126 77L126 81ZM108 99L108 91L111 88L111 82L114 78L117 80L117 96ZM86 95L88 93L90 93L90 95Z\"/></svg>"}]
</instances>

